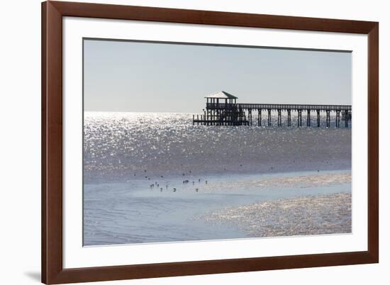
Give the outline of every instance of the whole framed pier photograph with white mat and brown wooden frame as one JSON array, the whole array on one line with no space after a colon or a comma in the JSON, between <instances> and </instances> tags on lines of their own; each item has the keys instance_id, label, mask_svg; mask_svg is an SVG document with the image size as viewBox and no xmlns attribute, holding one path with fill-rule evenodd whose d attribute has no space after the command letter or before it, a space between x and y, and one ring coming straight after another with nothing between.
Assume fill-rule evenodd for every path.
<instances>
[{"instance_id":1,"label":"whole framed pier photograph with white mat and brown wooden frame","mask_svg":"<svg viewBox=\"0 0 390 285\"><path fill-rule=\"evenodd\" d=\"M379 23L42 4L42 281L379 262Z\"/></svg>"}]
</instances>

